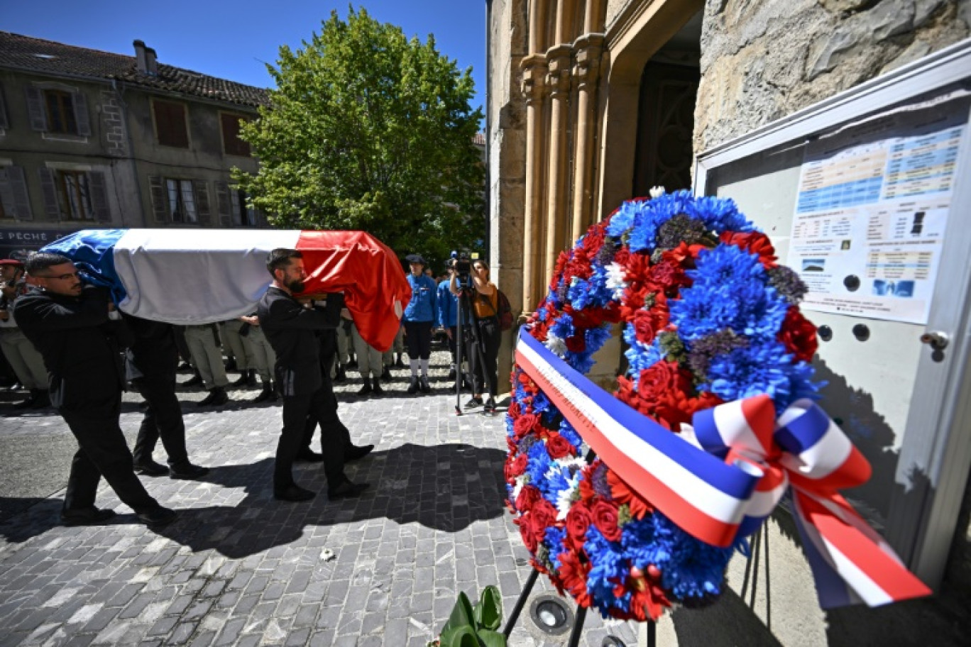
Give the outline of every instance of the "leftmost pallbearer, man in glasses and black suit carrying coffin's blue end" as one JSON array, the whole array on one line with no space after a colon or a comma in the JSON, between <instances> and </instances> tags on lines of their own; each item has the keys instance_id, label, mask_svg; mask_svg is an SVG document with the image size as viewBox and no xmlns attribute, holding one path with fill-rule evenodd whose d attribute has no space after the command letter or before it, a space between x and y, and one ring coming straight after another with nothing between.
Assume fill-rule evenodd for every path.
<instances>
[{"instance_id":1,"label":"leftmost pallbearer, man in glasses and black suit carrying coffin's blue end","mask_svg":"<svg viewBox=\"0 0 971 647\"><path fill-rule=\"evenodd\" d=\"M104 523L114 510L94 505L105 477L118 499L142 523L164 526L173 510L151 498L135 475L131 451L118 426L124 375L119 347L126 330L108 291L84 285L71 259L37 252L27 258L33 285L17 299L15 315L48 370L50 402L78 440L61 520L68 525Z\"/></svg>"}]
</instances>

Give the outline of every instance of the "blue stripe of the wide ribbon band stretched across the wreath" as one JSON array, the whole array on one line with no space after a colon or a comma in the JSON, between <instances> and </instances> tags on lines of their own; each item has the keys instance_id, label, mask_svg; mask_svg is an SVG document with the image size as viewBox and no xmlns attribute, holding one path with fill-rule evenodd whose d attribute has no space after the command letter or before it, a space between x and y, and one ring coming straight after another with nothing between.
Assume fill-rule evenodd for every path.
<instances>
[{"instance_id":1,"label":"blue stripe of the wide ribbon band stretched across the wreath","mask_svg":"<svg viewBox=\"0 0 971 647\"><path fill-rule=\"evenodd\" d=\"M676 437L674 432L661 427L640 411L620 402L556 356L542 342L533 339L525 328L520 328L519 340L525 342L554 370L585 393L594 404L632 435L655 447L672 461L729 497L742 501L749 499L758 482L757 478L741 469L725 465L720 459Z\"/></svg>"}]
</instances>

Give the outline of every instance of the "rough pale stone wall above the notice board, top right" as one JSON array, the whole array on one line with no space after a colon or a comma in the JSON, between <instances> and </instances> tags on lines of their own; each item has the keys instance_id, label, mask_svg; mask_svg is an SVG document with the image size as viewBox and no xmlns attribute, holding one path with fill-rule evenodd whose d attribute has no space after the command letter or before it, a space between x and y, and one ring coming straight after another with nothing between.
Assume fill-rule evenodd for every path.
<instances>
[{"instance_id":1,"label":"rough pale stone wall above the notice board, top right","mask_svg":"<svg viewBox=\"0 0 971 647\"><path fill-rule=\"evenodd\" d=\"M707 0L701 152L967 38L971 0Z\"/></svg>"}]
</instances>

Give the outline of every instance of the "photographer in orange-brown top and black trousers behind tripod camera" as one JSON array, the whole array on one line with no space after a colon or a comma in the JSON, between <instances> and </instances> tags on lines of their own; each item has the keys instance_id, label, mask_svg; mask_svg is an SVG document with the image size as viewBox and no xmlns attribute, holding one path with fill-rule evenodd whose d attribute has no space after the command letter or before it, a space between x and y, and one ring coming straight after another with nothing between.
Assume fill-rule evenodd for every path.
<instances>
[{"instance_id":1,"label":"photographer in orange-brown top and black trousers behind tripod camera","mask_svg":"<svg viewBox=\"0 0 971 647\"><path fill-rule=\"evenodd\" d=\"M459 264L461 261L458 262ZM495 412L495 396L498 393L499 378L497 360L499 357L499 342L502 330L499 328L499 290L495 284L489 280L488 265L483 260L472 261L471 271L468 276L468 283L459 286L457 275L461 268L456 267L456 272L452 274L449 289L452 294L460 296L462 291L468 297L471 321L469 324L475 326L476 335L468 335L465 343L468 347L469 364L472 367L473 396L472 400L465 404L466 408L473 406L484 406L485 413ZM476 352L474 343L479 339L479 351ZM488 400L483 403L483 391L488 387Z\"/></svg>"}]
</instances>

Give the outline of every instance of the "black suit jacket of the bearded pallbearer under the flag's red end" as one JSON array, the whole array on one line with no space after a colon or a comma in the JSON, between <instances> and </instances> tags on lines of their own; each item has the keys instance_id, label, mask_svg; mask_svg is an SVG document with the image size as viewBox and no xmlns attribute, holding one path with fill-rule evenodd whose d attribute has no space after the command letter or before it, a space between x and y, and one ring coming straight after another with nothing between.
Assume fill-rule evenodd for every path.
<instances>
[{"instance_id":1,"label":"black suit jacket of the bearded pallbearer under the flag's red end","mask_svg":"<svg viewBox=\"0 0 971 647\"><path fill-rule=\"evenodd\" d=\"M327 297L324 307L303 307L284 290L270 287L256 315L266 340L277 354L274 376L285 397L314 393L323 384L317 332L337 328L344 295Z\"/></svg>"}]
</instances>

